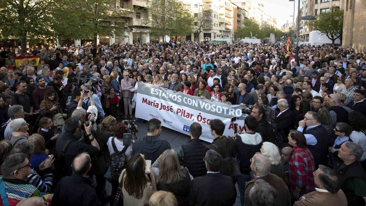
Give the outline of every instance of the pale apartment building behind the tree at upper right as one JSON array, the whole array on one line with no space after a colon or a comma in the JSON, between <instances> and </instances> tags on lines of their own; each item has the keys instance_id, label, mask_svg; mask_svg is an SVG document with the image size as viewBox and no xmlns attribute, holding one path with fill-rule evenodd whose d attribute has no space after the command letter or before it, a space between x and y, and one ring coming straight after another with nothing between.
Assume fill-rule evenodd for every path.
<instances>
[{"instance_id":1,"label":"pale apartment building behind the tree at upper right","mask_svg":"<svg viewBox=\"0 0 366 206\"><path fill-rule=\"evenodd\" d=\"M347 0L348 1L348 0ZM313 15L328 12L332 8L344 9L344 0L302 0L300 4L301 16ZM309 41L309 32L313 31L312 27L306 25L309 20L300 20L299 39L300 41Z\"/></svg>"}]
</instances>

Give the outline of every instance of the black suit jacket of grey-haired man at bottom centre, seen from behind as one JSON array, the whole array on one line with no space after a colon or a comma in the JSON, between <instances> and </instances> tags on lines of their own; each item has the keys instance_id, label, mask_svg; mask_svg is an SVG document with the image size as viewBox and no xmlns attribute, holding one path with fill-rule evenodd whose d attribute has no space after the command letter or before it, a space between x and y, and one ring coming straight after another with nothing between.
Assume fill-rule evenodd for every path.
<instances>
[{"instance_id":1,"label":"black suit jacket of grey-haired man at bottom centre, seen from behind","mask_svg":"<svg viewBox=\"0 0 366 206\"><path fill-rule=\"evenodd\" d=\"M231 177L208 173L192 181L189 203L193 206L231 206L236 201L236 189Z\"/></svg>"}]
</instances>

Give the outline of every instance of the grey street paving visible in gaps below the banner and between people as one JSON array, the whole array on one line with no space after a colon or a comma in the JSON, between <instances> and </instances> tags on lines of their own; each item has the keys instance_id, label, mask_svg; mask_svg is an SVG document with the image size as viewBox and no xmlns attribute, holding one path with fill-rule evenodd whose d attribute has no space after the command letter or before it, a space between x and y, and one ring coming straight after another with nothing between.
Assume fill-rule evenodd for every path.
<instances>
[{"instance_id":1,"label":"grey street paving visible in gaps below the banner and between people","mask_svg":"<svg viewBox=\"0 0 366 206\"><path fill-rule=\"evenodd\" d=\"M138 133L137 136L138 137L142 137L144 135L146 135L147 133L147 126L146 126L147 122L142 122L141 119L137 119L136 120L136 124L138 127ZM169 141L170 146L173 148L173 150L177 151L179 150L179 147L182 146L182 144L186 144L188 142L188 140L190 139L190 136L188 135L184 135L180 132L176 132L175 130L163 127L163 131L161 132L160 135L161 138L166 139ZM208 142L204 142L207 146L209 146ZM240 205L240 199L239 199L239 192L238 192L238 186L236 186L236 191L237 191L237 198L236 198L236 203L234 206L239 206ZM107 186L106 186L106 190L107 190L107 194L111 195L111 185L108 183L107 181ZM107 204L106 206L108 206L109 204Z\"/></svg>"}]
</instances>

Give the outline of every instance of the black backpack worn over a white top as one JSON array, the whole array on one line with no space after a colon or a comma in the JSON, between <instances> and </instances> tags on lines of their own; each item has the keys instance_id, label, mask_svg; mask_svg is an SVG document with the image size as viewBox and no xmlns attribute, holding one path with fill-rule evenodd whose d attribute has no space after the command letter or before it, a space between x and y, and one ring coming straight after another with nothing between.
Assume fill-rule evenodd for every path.
<instances>
[{"instance_id":1,"label":"black backpack worn over a white top","mask_svg":"<svg viewBox=\"0 0 366 206\"><path fill-rule=\"evenodd\" d=\"M112 173L112 180L118 180L124 165L126 163L126 157L124 152L126 152L128 146L124 146L122 151L118 151L115 143L115 138L112 138L112 147L114 153L111 154L111 173Z\"/></svg>"}]
</instances>

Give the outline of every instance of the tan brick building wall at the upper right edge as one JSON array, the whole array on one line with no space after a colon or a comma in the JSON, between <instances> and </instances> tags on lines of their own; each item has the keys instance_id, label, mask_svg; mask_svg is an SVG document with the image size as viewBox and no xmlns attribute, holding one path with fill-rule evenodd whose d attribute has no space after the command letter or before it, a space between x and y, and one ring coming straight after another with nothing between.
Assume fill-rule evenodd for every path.
<instances>
[{"instance_id":1,"label":"tan brick building wall at the upper right edge","mask_svg":"<svg viewBox=\"0 0 366 206\"><path fill-rule=\"evenodd\" d=\"M365 16L365 0L347 0L344 2L343 47L366 50L365 29L363 29Z\"/></svg>"}]
</instances>

